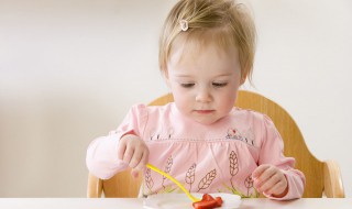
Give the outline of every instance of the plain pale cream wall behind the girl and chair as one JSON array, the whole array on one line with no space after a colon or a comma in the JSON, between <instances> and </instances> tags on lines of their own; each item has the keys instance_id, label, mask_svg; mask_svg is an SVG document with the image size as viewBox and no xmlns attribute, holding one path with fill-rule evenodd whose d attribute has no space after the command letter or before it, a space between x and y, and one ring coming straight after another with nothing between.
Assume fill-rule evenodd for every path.
<instances>
[{"instance_id":1,"label":"plain pale cream wall behind the girl and chair","mask_svg":"<svg viewBox=\"0 0 352 209\"><path fill-rule=\"evenodd\" d=\"M0 197L85 197L86 148L167 92L157 42L175 0L0 0ZM254 87L340 164L352 197L352 1L249 0Z\"/></svg>"}]
</instances>

